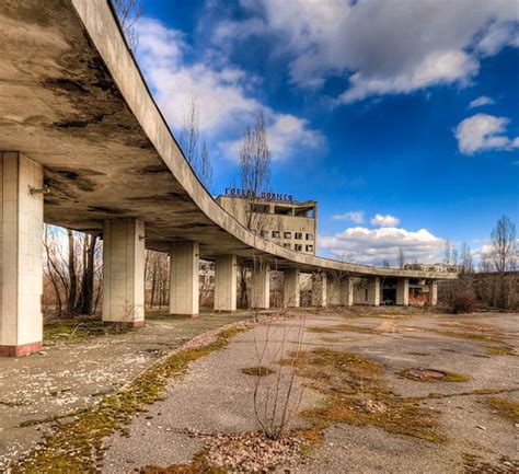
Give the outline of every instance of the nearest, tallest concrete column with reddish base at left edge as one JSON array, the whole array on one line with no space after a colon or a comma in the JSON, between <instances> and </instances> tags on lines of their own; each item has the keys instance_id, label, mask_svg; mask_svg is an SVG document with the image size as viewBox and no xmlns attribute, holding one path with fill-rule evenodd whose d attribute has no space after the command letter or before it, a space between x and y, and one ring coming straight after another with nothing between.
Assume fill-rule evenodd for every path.
<instances>
[{"instance_id":1,"label":"nearest, tallest concrete column with reddish base at left edge","mask_svg":"<svg viewBox=\"0 0 519 474\"><path fill-rule=\"evenodd\" d=\"M42 347L43 167L0 152L0 356Z\"/></svg>"}]
</instances>

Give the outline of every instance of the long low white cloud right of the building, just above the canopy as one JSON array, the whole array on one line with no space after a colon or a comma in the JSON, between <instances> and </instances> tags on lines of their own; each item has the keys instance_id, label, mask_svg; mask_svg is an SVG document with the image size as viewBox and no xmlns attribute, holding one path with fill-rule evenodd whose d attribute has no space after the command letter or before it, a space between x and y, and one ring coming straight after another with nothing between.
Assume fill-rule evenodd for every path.
<instances>
[{"instance_id":1,"label":"long low white cloud right of the building, just above the canopy","mask_svg":"<svg viewBox=\"0 0 519 474\"><path fill-rule=\"evenodd\" d=\"M334 257L360 264L380 265L388 259L396 264L400 250L407 262L434 263L441 258L445 241L426 229L416 232L406 229L345 229L333 236L321 236L320 247Z\"/></svg>"}]
</instances>

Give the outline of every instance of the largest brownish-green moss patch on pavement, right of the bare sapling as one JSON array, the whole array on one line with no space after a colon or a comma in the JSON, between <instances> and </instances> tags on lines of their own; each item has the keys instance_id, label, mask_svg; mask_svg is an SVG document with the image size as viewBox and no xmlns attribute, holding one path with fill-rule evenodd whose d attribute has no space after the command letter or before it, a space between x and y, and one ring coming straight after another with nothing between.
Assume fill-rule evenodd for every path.
<instances>
[{"instance_id":1,"label":"largest brownish-green moss patch on pavement, right of the bare sapling","mask_svg":"<svg viewBox=\"0 0 519 474\"><path fill-rule=\"evenodd\" d=\"M305 439L303 454L337 423L377 426L431 442L447 439L438 431L438 411L423 407L419 400L394 394L384 380L383 367L359 354L318 348L303 354L297 371L310 379L313 390L325 395L323 406L302 413L310 423L309 428L299 430Z\"/></svg>"}]
</instances>

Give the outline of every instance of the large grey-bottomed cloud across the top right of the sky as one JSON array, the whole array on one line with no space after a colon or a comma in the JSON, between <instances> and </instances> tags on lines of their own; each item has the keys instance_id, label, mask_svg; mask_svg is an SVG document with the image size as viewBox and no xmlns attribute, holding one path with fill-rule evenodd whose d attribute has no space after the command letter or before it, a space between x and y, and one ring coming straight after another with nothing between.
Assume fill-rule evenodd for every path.
<instances>
[{"instance_id":1,"label":"large grey-bottomed cloud across the top right of the sky","mask_svg":"<svg viewBox=\"0 0 519 474\"><path fill-rule=\"evenodd\" d=\"M435 84L464 84L480 59L519 46L517 0L240 0L247 28L227 21L218 37L275 35L289 58L292 82L322 86L343 76L337 103L408 93ZM468 14L470 12L470 14ZM222 34L226 32L226 34Z\"/></svg>"}]
</instances>

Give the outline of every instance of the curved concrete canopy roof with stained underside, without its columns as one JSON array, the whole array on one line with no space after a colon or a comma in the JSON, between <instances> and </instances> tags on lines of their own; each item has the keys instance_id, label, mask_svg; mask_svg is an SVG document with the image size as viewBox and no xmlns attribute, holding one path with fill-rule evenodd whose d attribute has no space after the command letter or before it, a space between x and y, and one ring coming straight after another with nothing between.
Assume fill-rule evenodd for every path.
<instances>
[{"instance_id":1,"label":"curved concrete canopy roof with stained underside, without its columns","mask_svg":"<svg viewBox=\"0 0 519 474\"><path fill-rule=\"evenodd\" d=\"M0 150L45 167L45 221L101 232L103 220L145 221L147 247L200 243L278 267L429 279L452 274L355 265L287 250L235 221L182 154L107 0L0 4Z\"/></svg>"}]
</instances>

